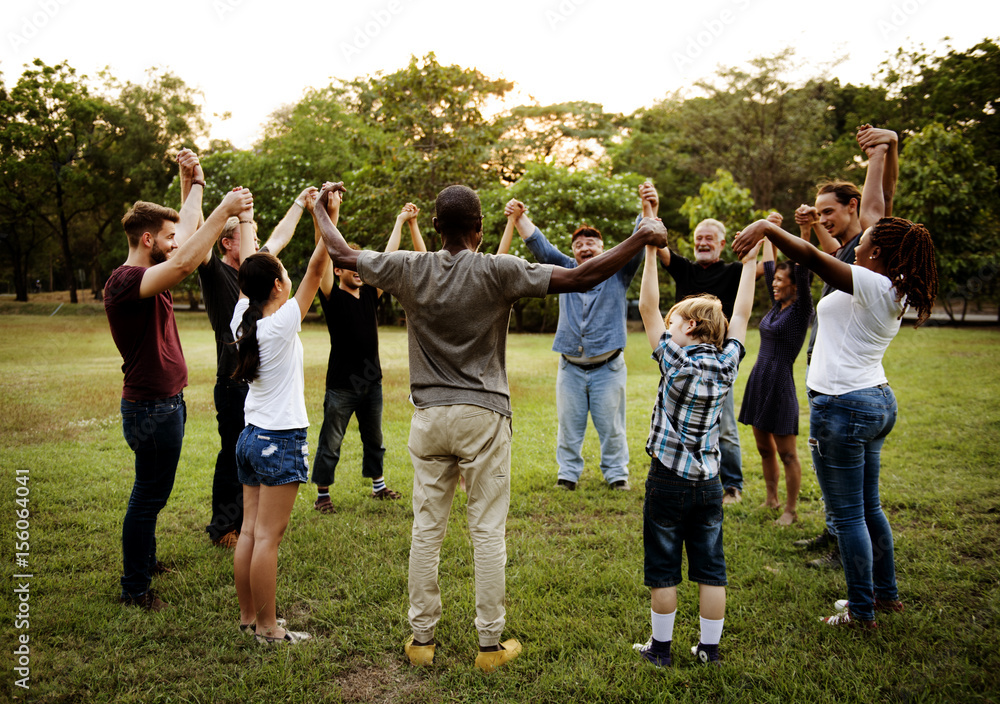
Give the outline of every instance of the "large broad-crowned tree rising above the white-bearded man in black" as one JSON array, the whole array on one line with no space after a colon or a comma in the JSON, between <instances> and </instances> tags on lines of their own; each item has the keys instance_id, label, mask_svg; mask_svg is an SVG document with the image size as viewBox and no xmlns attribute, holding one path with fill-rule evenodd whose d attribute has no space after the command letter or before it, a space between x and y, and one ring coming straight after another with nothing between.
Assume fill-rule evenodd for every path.
<instances>
[{"instance_id":1,"label":"large broad-crowned tree rising above the white-bearded man in black","mask_svg":"<svg viewBox=\"0 0 1000 704\"><path fill-rule=\"evenodd\" d=\"M623 143L609 148L614 170L653 179L668 227L684 227L673 213L717 169L745 184L761 208L794 210L817 180L850 170L854 129L868 121L855 111L877 104L877 91L818 79L795 87L784 77L792 58L786 50L750 60L749 69L720 69L695 84L700 96L674 93L639 110Z\"/></svg>"}]
</instances>

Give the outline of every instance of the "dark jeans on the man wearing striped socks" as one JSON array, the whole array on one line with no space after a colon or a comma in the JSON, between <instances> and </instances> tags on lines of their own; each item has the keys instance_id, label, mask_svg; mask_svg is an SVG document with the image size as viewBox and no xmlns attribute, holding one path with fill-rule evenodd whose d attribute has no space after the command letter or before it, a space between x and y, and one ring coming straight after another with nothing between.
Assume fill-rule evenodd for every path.
<instances>
[{"instance_id":1,"label":"dark jeans on the man wearing striped socks","mask_svg":"<svg viewBox=\"0 0 1000 704\"><path fill-rule=\"evenodd\" d=\"M357 416L361 433L361 476L378 479L383 474L385 445L382 444L382 382L358 384L353 389L327 389L323 401L323 426L319 431L312 482L333 484L340 445L351 416Z\"/></svg>"}]
</instances>

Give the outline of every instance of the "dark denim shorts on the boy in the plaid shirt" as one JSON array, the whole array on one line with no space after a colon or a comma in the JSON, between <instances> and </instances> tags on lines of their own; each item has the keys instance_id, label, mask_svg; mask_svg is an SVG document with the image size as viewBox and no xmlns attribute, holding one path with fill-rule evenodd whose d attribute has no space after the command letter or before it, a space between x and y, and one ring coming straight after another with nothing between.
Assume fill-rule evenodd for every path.
<instances>
[{"instance_id":1,"label":"dark denim shorts on the boy in the plaid shirt","mask_svg":"<svg viewBox=\"0 0 1000 704\"><path fill-rule=\"evenodd\" d=\"M674 587L681 582L681 550L686 547L688 580L726 586L722 552L722 482L690 481L653 458L642 507L645 585Z\"/></svg>"}]
</instances>

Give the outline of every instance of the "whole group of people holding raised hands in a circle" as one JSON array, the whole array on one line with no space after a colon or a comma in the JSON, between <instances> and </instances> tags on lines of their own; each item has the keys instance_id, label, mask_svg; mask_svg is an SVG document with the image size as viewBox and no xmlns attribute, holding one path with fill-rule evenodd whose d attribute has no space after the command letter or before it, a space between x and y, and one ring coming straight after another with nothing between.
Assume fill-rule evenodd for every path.
<instances>
[{"instance_id":1,"label":"whole group of people holding raised hands in a circle","mask_svg":"<svg viewBox=\"0 0 1000 704\"><path fill-rule=\"evenodd\" d=\"M816 306L810 343L809 447L827 509L823 544L839 548L847 581L847 599L824 621L874 628L876 611L902 610L892 533L879 503L879 454L896 418L881 360L907 307L917 310L918 325L929 315L937 274L926 229L889 217L895 134L866 125L858 141L868 157L863 192L847 182L821 185L816 205L796 212L800 236L782 230L781 217L772 214L736 233L732 247L739 262L731 264L720 259L726 230L715 220L696 227L694 261L671 251L649 182L640 187L642 213L632 235L607 251L601 233L583 226L573 233L572 256L563 254L531 222L526 206L511 200L500 252L480 253L479 197L457 185L442 190L435 202L440 250L425 251L419 210L407 204L386 250L361 251L337 227L345 192L341 183L303 190L258 250L249 190L229 192L203 219L205 176L197 156L183 150L178 156L181 210L142 201L129 210L122 221L129 255L112 273L105 293L112 335L124 359L123 430L135 453L136 473L123 525L120 600L150 610L167 606L150 582L169 570L156 559L155 527L176 474L187 383L169 289L197 269L218 352L221 449L207 530L216 544L235 548L240 630L264 644L310 638L287 628L275 609L278 546L299 484L309 479L298 332L319 293L331 352L313 467L316 510L334 510L329 487L352 414L359 423L362 474L372 480L372 497L398 499L383 472L375 319L378 297L388 291L407 316L415 407L407 444L413 465L412 637L404 651L414 665L433 662L442 613L439 555L461 482L468 494L475 561L475 665L489 672L517 657L520 643L502 640L512 428L505 351L511 308L522 297L560 295L553 343L560 355L556 486L573 491L581 481L589 414L600 436L604 480L612 490L627 491L625 291L641 266L639 310L661 380L646 443L650 466L643 508L652 635L636 644L636 651L658 667L672 662L676 586L686 550L688 578L699 584L701 612L700 639L692 653L703 663L721 660L727 585L723 505L742 499L732 386L746 353L755 280L761 275L771 308L761 321L760 351L739 420L753 426L767 487L764 505L782 509L781 525L797 520L801 469L792 364L813 317L810 277L815 274L829 290ZM277 254L304 212L313 219L315 249L293 296ZM397 251L407 225L413 250ZM514 230L538 263L506 254ZM810 242L812 230L819 234L818 248ZM219 256L212 252L217 241ZM776 251L787 261L777 262ZM661 266L677 290L676 304L665 317L657 281ZM785 470L784 502L778 496L779 462Z\"/></svg>"}]
</instances>

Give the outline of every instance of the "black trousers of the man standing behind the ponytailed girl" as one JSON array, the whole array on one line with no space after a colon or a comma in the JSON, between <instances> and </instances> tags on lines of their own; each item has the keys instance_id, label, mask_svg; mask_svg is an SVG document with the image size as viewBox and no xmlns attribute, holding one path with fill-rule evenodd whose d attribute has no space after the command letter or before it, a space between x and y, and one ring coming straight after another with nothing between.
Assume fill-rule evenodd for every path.
<instances>
[{"instance_id":1,"label":"black trousers of the man standing behind the ponytailed girl","mask_svg":"<svg viewBox=\"0 0 1000 704\"><path fill-rule=\"evenodd\" d=\"M220 448L212 479L212 520L205 526L212 540L243 525L243 485L236 475L236 441L246 423L243 406L250 387L231 379L215 381L215 418Z\"/></svg>"}]
</instances>

